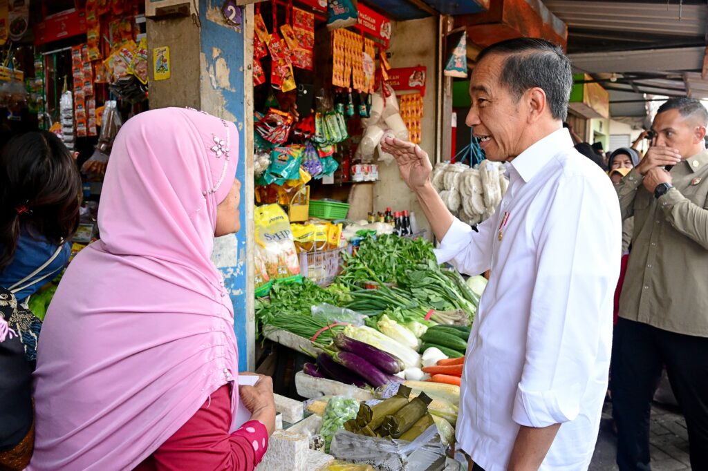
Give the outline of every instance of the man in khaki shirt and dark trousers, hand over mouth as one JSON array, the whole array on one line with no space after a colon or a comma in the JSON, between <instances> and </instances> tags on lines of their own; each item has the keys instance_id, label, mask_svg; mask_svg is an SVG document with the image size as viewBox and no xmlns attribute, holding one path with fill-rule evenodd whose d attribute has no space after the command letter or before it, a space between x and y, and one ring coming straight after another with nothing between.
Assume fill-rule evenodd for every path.
<instances>
[{"instance_id":1,"label":"man in khaki shirt and dark trousers, hand over mouth","mask_svg":"<svg viewBox=\"0 0 708 471\"><path fill-rule=\"evenodd\" d=\"M649 470L649 402L661 369L683 410L694 470L708 470L708 111L672 98L652 147L617 185L634 216L612 348L619 470Z\"/></svg>"}]
</instances>

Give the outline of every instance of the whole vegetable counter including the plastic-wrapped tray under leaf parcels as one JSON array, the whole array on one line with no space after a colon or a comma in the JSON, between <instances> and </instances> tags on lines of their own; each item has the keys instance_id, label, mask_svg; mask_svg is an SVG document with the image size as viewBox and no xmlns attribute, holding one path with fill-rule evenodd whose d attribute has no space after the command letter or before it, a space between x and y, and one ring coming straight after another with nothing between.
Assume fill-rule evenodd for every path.
<instances>
[{"instance_id":1,"label":"whole vegetable counter including the plastic-wrapped tray under leaf parcels","mask_svg":"<svg viewBox=\"0 0 708 471\"><path fill-rule=\"evenodd\" d=\"M309 399L299 409L316 416L304 422L332 458L443 469L454 450L464 351L486 279L440 267L432 248L367 234L331 284L275 284L257 301L263 336L309 358L295 374L297 395Z\"/></svg>"}]
</instances>

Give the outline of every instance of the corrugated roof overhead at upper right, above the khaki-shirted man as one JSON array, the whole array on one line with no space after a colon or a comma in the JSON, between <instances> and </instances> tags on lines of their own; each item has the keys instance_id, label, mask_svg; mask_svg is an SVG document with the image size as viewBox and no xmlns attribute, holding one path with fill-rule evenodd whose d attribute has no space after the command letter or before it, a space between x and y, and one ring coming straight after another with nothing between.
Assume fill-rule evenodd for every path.
<instances>
[{"instance_id":1,"label":"corrugated roof overhead at upper right, above the khaki-shirted man","mask_svg":"<svg viewBox=\"0 0 708 471\"><path fill-rule=\"evenodd\" d=\"M568 25L573 69L610 92L612 117L639 116L645 95L708 98L705 1L544 0ZM651 98L649 98L651 99Z\"/></svg>"}]
</instances>

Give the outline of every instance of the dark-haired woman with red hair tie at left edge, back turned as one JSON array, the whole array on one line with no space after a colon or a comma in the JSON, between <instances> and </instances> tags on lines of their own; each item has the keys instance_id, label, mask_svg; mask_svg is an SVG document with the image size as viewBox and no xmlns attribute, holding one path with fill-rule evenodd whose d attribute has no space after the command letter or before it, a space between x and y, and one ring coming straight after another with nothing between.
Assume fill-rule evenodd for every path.
<instances>
[{"instance_id":1,"label":"dark-haired woman with red hair tie at left edge, back turned","mask_svg":"<svg viewBox=\"0 0 708 471\"><path fill-rule=\"evenodd\" d=\"M42 322L26 301L69 260L80 192L74 158L55 134L28 132L0 153L0 469L21 470L30 460Z\"/></svg>"}]
</instances>

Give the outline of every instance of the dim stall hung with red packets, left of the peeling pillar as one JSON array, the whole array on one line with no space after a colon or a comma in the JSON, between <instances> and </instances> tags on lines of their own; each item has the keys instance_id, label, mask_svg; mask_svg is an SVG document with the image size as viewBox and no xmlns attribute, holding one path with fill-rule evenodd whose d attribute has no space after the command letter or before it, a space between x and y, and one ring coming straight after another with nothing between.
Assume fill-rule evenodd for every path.
<instances>
[{"instance_id":1,"label":"dim stall hung with red packets, left of the peeling pillar","mask_svg":"<svg viewBox=\"0 0 708 471\"><path fill-rule=\"evenodd\" d=\"M74 152L84 194L72 257L99 236L101 186L118 129L148 108L144 10L142 0L0 2L2 144L41 129ZM57 283L30 299L40 319Z\"/></svg>"}]
</instances>

